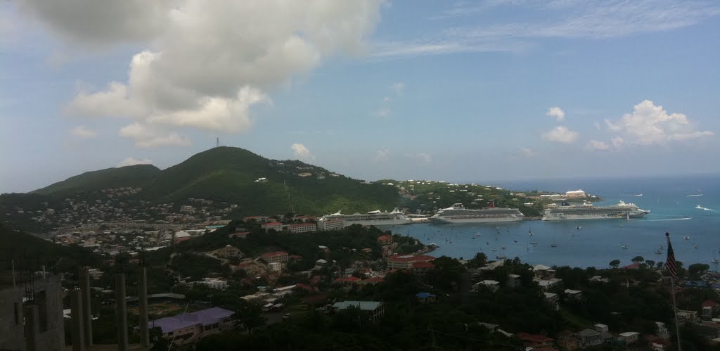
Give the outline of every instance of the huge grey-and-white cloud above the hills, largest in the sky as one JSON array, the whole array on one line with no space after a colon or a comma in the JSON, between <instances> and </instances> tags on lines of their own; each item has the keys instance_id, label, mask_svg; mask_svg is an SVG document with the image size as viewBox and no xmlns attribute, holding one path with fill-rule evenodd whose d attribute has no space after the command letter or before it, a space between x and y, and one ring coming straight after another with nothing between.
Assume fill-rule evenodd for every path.
<instances>
[{"instance_id":1,"label":"huge grey-and-white cloud above the hills, largest in the sky","mask_svg":"<svg viewBox=\"0 0 720 351\"><path fill-rule=\"evenodd\" d=\"M28 0L23 9L66 43L147 45L130 60L127 81L82 89L65 112L129 117L168 136L181 127L249 130L252 107L270 102L271 89L337 53L364 53L382 0L119 3Z\"/></svg>"}]
</instances>

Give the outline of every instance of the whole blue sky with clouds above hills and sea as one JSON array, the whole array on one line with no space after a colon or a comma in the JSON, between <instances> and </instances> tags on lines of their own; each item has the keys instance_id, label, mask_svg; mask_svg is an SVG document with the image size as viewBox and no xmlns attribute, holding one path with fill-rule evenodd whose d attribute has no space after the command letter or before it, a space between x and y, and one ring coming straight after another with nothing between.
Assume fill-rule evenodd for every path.
<instances>
[{"instance_id":1,"label":"whole blue sky with clouds above hills and sea","mask_svg":"<svg viewBox=\"0 0 720 351\"><path fill-rule=\"evenodd\" d=\"M720 172L714 0L0 3L0 192L215 146L359 179Z\"/></svg>"}]
</instances>

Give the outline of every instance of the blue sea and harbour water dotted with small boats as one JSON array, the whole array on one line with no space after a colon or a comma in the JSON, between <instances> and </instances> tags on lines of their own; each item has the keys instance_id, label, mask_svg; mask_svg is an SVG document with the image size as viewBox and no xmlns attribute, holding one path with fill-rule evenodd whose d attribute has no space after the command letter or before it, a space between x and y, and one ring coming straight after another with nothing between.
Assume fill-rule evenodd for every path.
<instances>
[{"instance_id":1,"label":"blue sea and harbour water dotted with small boats","mask_svg":"<svg viewBox=\"0 0 720 351\"><path fill-rule=\"evenodd\" d=\"M669 232L675 259L685 267L699 262L710 265L711 270L720 270L720 265L711 262L720 260L720 175L552 179L493 185L516 191L564 193L582 189L603 199L595 205L624 200L651 212L645 218L630 220L422 223L388 229L425 244L437 244L440 247L431 253L436 257L469 259L484 252L489 259L503 254L531 265L598 268L609 267L613 259L619 259L621 266L630 265L636 256L664 262L665 232ZM529 236L528 231L534 235Z\"/></svg>"}]
</instances>

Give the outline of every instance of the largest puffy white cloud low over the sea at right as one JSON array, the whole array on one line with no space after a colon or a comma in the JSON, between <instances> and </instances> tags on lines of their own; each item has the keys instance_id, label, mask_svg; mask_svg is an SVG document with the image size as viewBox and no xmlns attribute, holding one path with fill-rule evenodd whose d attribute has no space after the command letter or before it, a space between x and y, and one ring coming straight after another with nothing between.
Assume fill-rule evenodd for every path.
<instances>
[{"instance_id":1,"label":"largest puffy white cloud low over the sea at right","mask_svg":"<svg viewBox=\"0 0 720 351\"><path fill-rule=\"evenodd\" d=\"M662 106L656 106L650 100L635 105L633 112L626 113L621 119L605 120L605 123L609 130L622 135L618 139L621 143L664 144L714 135L710 130L696 130L688 116L682 113L668 114Z\"/></svg>"}]
</instances>

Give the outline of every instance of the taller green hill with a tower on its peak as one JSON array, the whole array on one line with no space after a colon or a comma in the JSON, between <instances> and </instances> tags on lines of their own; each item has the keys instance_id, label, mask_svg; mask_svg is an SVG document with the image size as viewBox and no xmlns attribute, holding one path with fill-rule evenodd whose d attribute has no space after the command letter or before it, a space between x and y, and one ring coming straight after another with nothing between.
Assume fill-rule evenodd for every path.
<instances>
[{"instance_id":1,"label":"taller green hill with a tower on its peak","mask_svg":"<svg viewBox=\"0 0 720 351\"><path fill-rule=\"evenodd\" d=\"M258 179L264 178L264 181ZM395 187L364 184L301 161L265 159L242 148L196 154L158 174L143 196L159 203L199 197L238 204L238 214L320 215L397 205Z\"/></svg>"}]
</instances>

